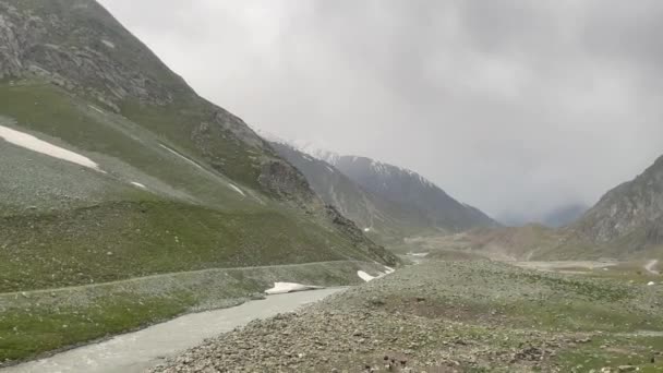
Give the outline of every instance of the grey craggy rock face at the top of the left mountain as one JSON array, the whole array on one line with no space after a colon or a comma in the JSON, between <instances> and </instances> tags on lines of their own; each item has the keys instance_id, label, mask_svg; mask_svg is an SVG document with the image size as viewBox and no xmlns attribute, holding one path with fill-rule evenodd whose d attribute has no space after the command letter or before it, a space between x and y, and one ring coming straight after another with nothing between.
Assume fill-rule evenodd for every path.
<instances>
[{"instance_id":1,"label":"grey craggy rock face at the top of the left mountain","mask_svg":"<svg viewBox=\"0 0 663 373\"><path fill-rule=\"evenodd\" d=\"M85 22L89 17L107 27ZM0 77L37 76L116 110L125 98L169 104L169 83L183 83L94 1L41 1L28 8L2 0L0 45ZM136 69L140 60L156 69Z\"/></svg>"}]
</instances>

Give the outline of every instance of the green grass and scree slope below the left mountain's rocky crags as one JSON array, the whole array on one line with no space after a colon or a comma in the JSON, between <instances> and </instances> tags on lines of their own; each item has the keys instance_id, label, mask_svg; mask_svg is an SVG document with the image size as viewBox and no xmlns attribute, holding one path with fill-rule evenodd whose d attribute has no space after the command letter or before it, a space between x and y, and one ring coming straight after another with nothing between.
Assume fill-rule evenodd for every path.
<instances>
[{"instance_id":1,"label":"green grass and scree slope below the left mountain's rocky crags","mask_svg":"<svg viewBox=\"0 0 663 373\"><path fill-rule=\"evenodd\" d=\"M269 202L156 132L169 117L162 132L174 133L174 115L145 109L134 111L134 122L38 82L0 85L0 113L40 139L76 144L107 171L0 147L10 160L1 166L0 292L210 267L375 260L330 225Z\"/></svg>"}]
</instances>

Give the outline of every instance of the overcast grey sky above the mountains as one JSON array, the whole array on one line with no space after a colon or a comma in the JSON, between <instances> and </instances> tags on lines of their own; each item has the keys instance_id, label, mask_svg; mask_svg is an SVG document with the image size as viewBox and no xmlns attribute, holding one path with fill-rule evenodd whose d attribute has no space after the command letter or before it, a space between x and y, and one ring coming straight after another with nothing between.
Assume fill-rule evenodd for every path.
<instances>
[{"instance_id":1,"label":"overcast grey sky above the mountains","mask_svg":"<svg viewBox=\"0 0 663 373\"><path fill-rule=\"evenodd\" d=\"M593 204L663 154L663 1L101 3L252 128L493 216Z\"/></svg>"}]
</instances>

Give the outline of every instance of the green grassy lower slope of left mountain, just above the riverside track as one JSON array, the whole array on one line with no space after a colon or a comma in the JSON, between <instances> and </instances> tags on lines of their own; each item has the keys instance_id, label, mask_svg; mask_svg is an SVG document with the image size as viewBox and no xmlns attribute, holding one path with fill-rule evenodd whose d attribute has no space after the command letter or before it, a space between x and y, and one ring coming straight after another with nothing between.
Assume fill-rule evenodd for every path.
<instances>
[{"instance_id":1,"label":"green grassy lower slope of left mountain, just above the riverside track","mask_svg":"<svg viewBox=\"0 0 663 373\"><path fill-rule=\"evenodd\" d=\"M353 243L334 231L277 212L106 203L1 217L0 292L180 270L342 261L357 254Z\"/></svg>"}]
</instances>

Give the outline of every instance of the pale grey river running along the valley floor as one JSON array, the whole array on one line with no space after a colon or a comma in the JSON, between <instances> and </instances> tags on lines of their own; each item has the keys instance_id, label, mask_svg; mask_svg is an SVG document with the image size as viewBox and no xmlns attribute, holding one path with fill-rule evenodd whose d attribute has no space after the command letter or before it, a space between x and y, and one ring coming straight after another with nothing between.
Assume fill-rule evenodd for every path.
<instances>
[{"instance_id":1,"label":"pale grey river running along the valley floor","mask_svg":"<svg viewBox=\"0 0 663 373\"><path fill-rule=\"evenodd\" d=\"M145 329L119 335L41 360L0 369L1 373L137 373L203 340L256 318L294 311L341 288L269 296L222 310L188 314Z\"/></svg>"}]
</instances>

